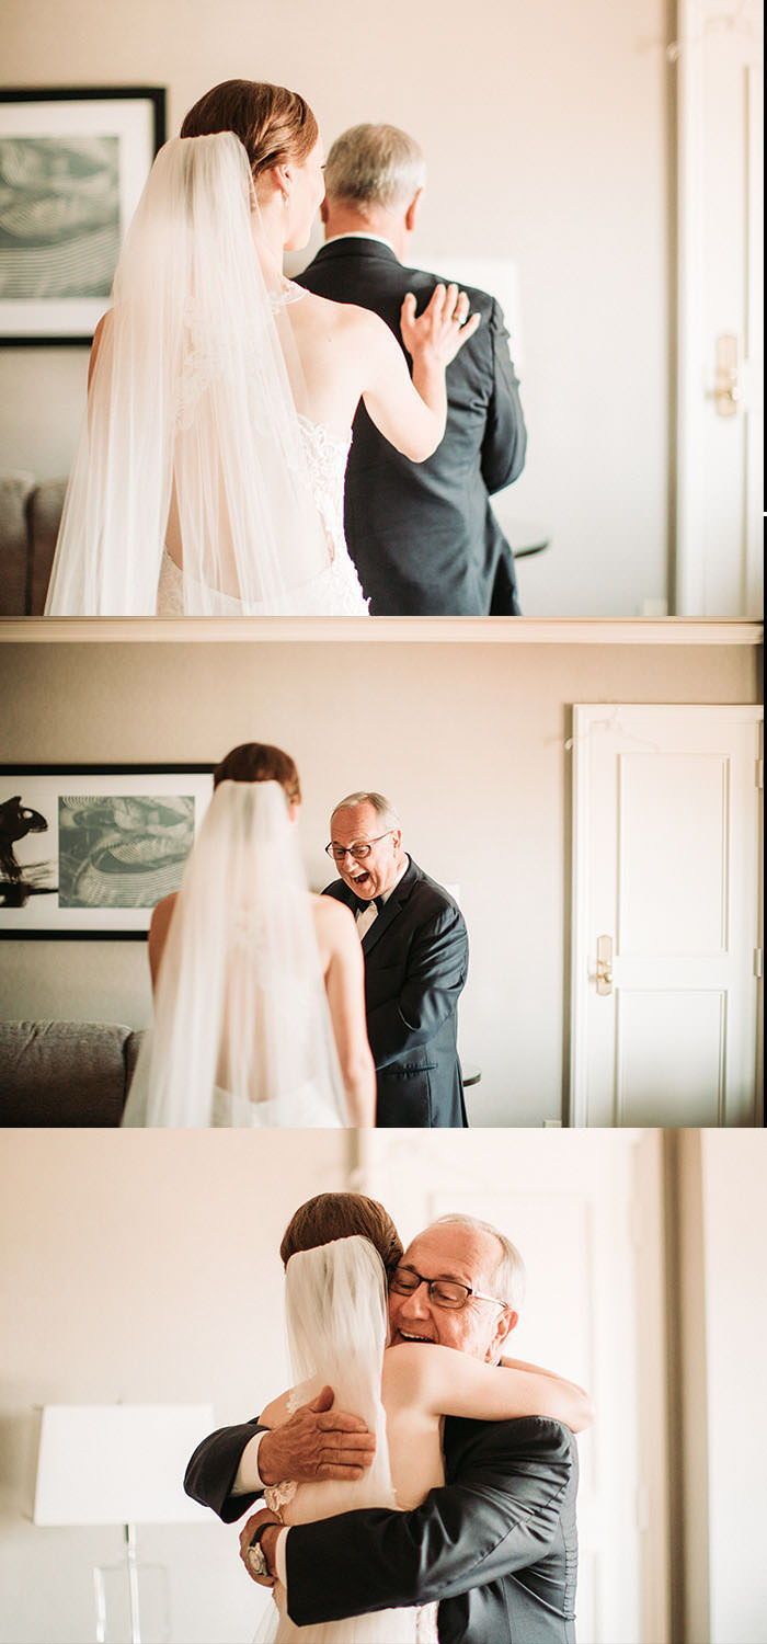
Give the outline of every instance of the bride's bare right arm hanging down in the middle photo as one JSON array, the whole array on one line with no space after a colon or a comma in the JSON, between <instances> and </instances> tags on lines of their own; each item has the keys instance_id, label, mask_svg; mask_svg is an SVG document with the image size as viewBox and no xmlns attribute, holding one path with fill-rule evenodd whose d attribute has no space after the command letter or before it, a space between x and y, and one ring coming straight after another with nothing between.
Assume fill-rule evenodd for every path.
<instances>
[{"instance_id":1,"label":"bride's bare right arm hanging down in the middle photo","mask_svg":"<svg viewBox=\"0 0 767 1644\"><path fill-rule=\"evenodd\" d=\"M327 952L325 991L350 1106L350 1123L376 1123L376 1069L365 1024L365 962L355 919L332 896L317 899Z\"/></svg>"}]
</instances>

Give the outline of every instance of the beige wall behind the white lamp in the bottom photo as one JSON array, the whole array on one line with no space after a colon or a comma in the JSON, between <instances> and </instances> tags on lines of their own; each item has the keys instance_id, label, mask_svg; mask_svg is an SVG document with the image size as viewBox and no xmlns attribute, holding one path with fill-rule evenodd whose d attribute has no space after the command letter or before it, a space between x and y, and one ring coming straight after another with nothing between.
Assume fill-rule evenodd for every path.
<instances>
[{"instance_id":1,"label":"beige wall behind the white lamp in the bottom photo","mask_svg":"<svg viewBox=\"0 0 767 1644\"><path fill-rule=\"evenodd\" d=\"M287 1381L279 1240L314 1192L348 1185L348 1138L296 1149L269 1134L44 1136L0 1149L0 1641L94 1637L92 1565L122 1557L115 1529L33 1529L33 1407L214 1404L258 1414ZM149 1146L145 1146L149 1143ZM235 1143L235 1146L232 1146ZM202 1434L200 1434L202 1437ZM214 1519L140 1531L171 1568L174 1644L251 1639L261 1601Z\"/></svg>"}]
</instances>

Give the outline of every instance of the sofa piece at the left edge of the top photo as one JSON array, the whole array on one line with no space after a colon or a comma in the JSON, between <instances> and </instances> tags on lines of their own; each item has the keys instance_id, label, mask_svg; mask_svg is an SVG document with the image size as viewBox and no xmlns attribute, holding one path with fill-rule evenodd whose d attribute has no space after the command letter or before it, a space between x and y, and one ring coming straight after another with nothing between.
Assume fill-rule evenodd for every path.
<instances>
[{"instance_id":1,"label":"sofa piece at the left edge of the top photo","mask_svg":"<svg viewBox=\"0 0 767 1644\"><path fill-rule=\"evenodd\" d=\"M66 480L0 478L0 616L41 616L64 506Z\"/></svg>"}]
</instances>

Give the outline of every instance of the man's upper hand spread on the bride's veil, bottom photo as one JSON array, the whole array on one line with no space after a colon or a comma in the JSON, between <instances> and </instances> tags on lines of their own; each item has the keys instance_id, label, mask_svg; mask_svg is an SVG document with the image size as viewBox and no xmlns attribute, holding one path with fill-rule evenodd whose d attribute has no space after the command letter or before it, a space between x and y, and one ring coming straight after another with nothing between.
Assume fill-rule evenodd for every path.
<instances>
[{"instance_id":1,"label":"man's upper hand spread on the bride's veil, bottom photo","mask_svg":"<svg viewBox=\"0 0 767 1644\"><path fill-rule=\"evenodd\" d=\"M350 1483L361 1478L376 1453L374 1434L360 1415L333 1411L335 1392L322 1388L310 1404L282 1427L273 1427L258 1448L258 1471L264 1485L294 1480L297 1485L325 1478Z\"/></svg>"}]
</instances>

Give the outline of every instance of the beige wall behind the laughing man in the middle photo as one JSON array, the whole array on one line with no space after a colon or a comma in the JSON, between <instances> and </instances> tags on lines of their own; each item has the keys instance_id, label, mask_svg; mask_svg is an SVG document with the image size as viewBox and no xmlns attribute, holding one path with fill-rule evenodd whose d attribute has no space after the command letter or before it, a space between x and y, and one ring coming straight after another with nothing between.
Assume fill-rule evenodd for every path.
<instances>
[{"instance_id":1,"label":"beige wall behind the laughing man in the middle photo","mask_svg":"<svg viewBox=\"0 0 767 1644\"><path fill-rule=\"evenodd\" d=\"M330 806L379 787L406 845L460 886L471 937L462 1051L480 1064L475 1124L563 1115L568 949L568 707L754 702L736 646L21 644L0 648L13 763L218 760L243 740L291 750L312 883L330 876ZM5 942L0 1014L143 1024L143 944Z\"/></svg>"}]
</instances>

